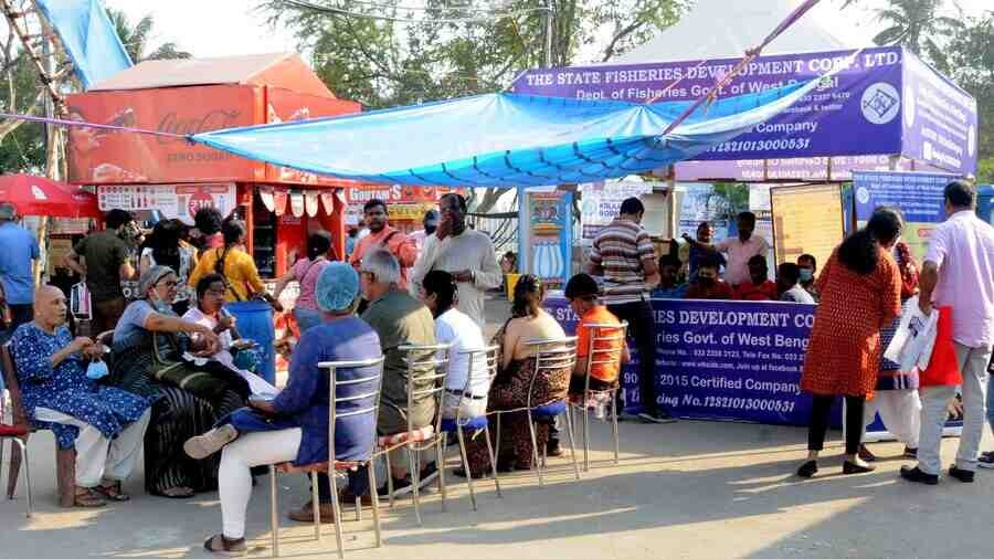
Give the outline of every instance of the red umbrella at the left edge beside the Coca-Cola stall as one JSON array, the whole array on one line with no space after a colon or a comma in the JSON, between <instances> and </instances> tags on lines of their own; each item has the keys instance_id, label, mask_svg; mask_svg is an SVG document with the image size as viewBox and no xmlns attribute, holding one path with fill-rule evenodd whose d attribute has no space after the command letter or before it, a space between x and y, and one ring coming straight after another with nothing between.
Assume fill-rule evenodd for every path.
<instances>
[{"instance_id":1,"label":"red umbrella at the left edge beside the Coca-Cola stall","mask_svg":"<svg viewBox=\"0 0 994 559\"><path fill-rule=\"evenodd\" d=\"M18 215L103 219L95 194L34 175L0 177L0 202L12 203Z\"/></svg>"}]
</instances>

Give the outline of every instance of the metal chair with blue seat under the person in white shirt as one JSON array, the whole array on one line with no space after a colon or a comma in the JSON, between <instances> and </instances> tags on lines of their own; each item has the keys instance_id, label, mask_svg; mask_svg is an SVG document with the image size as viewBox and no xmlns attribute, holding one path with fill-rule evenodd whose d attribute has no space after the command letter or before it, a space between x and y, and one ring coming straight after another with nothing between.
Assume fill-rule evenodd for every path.
<instances>
[{"instance_id":1,"label":"metal chair with blue seat under the person in white shirt","mask_svg":"<svg viewBox=\"0 0 994 559\"><path fill-rule=\"evenodd\" d=\"M462 355L468 356L469 370L466 376L466 386L463 387L459 395L459 407L456 410L454 419L442 420L442 444L447 446L448 433L455 433L459 443L459 456L463 461L463 472L466 474L466 484L469 486L469 502L473 510L476 510L476 492L473 487L473 476L469 474L469 457L466 454L465 432L470 431L473 436L483 435L487 442L487 452L490 454L490 467L494 473L494 485L497 487L497 496L500 494L500 481L497 478L497 456L494 453L494 445L490 442L490 425L486 412L473 418L463 416L463 403L472 401L474 397L486 394L497 377L497 361L500 356L500 346L488 346L480 349L462 351ZM473 391L473 386L478 384L480 380L486 379L486 388L477 388ZM478 393L478 392L482 392Z\"/></svg>"}]
</instances>

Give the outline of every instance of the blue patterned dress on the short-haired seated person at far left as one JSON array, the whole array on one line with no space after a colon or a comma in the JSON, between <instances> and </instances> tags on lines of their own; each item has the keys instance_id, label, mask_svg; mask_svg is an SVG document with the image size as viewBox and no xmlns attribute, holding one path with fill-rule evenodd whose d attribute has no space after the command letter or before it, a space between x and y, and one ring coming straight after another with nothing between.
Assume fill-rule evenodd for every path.
<instances>
[{"instance_id":1,"label":"blue patterned dress on the short-haired seated person at far left","mask_svg":"<svg viewBox=\"0 0 994 559\"><path fill-rule=\"evenodd\" d=\"M137 421L149 407L146 398L99 386L87 378L85 361L76 354L53 368L52 356L72 341L65 326L51 334L34 323L18 328L11 340L11 357L17 366L24 409L35 425L52 430L61 449L73 447L78 428L38 421L38 408L72 415L112 439Z\"/></svg>"}]
</instances>

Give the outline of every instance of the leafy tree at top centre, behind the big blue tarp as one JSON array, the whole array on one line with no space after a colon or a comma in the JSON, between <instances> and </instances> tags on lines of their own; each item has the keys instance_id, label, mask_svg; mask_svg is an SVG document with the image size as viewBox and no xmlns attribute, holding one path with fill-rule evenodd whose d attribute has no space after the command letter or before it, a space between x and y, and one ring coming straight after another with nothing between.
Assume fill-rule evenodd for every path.
<instances>
[{"instance_id":1,"label":"leafy tree at top centre, behind the big blue tarp","mask_svg":"<svg viewBox=\"0 0 994 559\"><path fill-rule=\"evenodd\" d=\"M645 42L675 23L687 0L549 3L550 57L553 66L565 66L606 61ZM546 0L458 8L451 0L265 0L260 9L272 24L295 29L302 51L314 53L317 74L336 95L381 108L500 91L520 72L543 65L544 7ZM474 21L455 21L467 19ZM506 191L474 196L474 211L489 211Z\"/></svg>"}]
</instances>

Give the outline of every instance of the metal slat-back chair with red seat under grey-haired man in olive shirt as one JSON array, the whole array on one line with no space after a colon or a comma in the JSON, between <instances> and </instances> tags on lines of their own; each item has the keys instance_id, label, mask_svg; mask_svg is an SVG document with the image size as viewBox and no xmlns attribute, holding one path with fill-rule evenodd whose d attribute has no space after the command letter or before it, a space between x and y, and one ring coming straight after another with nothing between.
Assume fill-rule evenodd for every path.
<instances>
[{"instance_id":1,"label":"metal slat-back chair with red seat under grey-haired man in olive shirt","mask_svg":"<svg viewBox=\"0 0 994 559\"><path fill-rule=\"evenodd\" d=\"M408 410L415 402L432 399L435 404L435 416L432 423L415 426L413 418L408 413L408 430L380 437L377 454L387 460L387 489L390 494L390 506L393 506L393 475L390 471L390 451L399 447L408 450L411 466L411 494L414 500L414 515L421 523L421 452L435 449L435 465L438 468L438 492L442 495L442 507L445 508L445 470L442 467L444 449L442 447L442 394L445 391L445 376L448 373L448 350L451 344L404 345L398 349L404 352L404 365L408 368ZM376 489L373 489L376 491Z\"/></svg>"}]
</instances>

